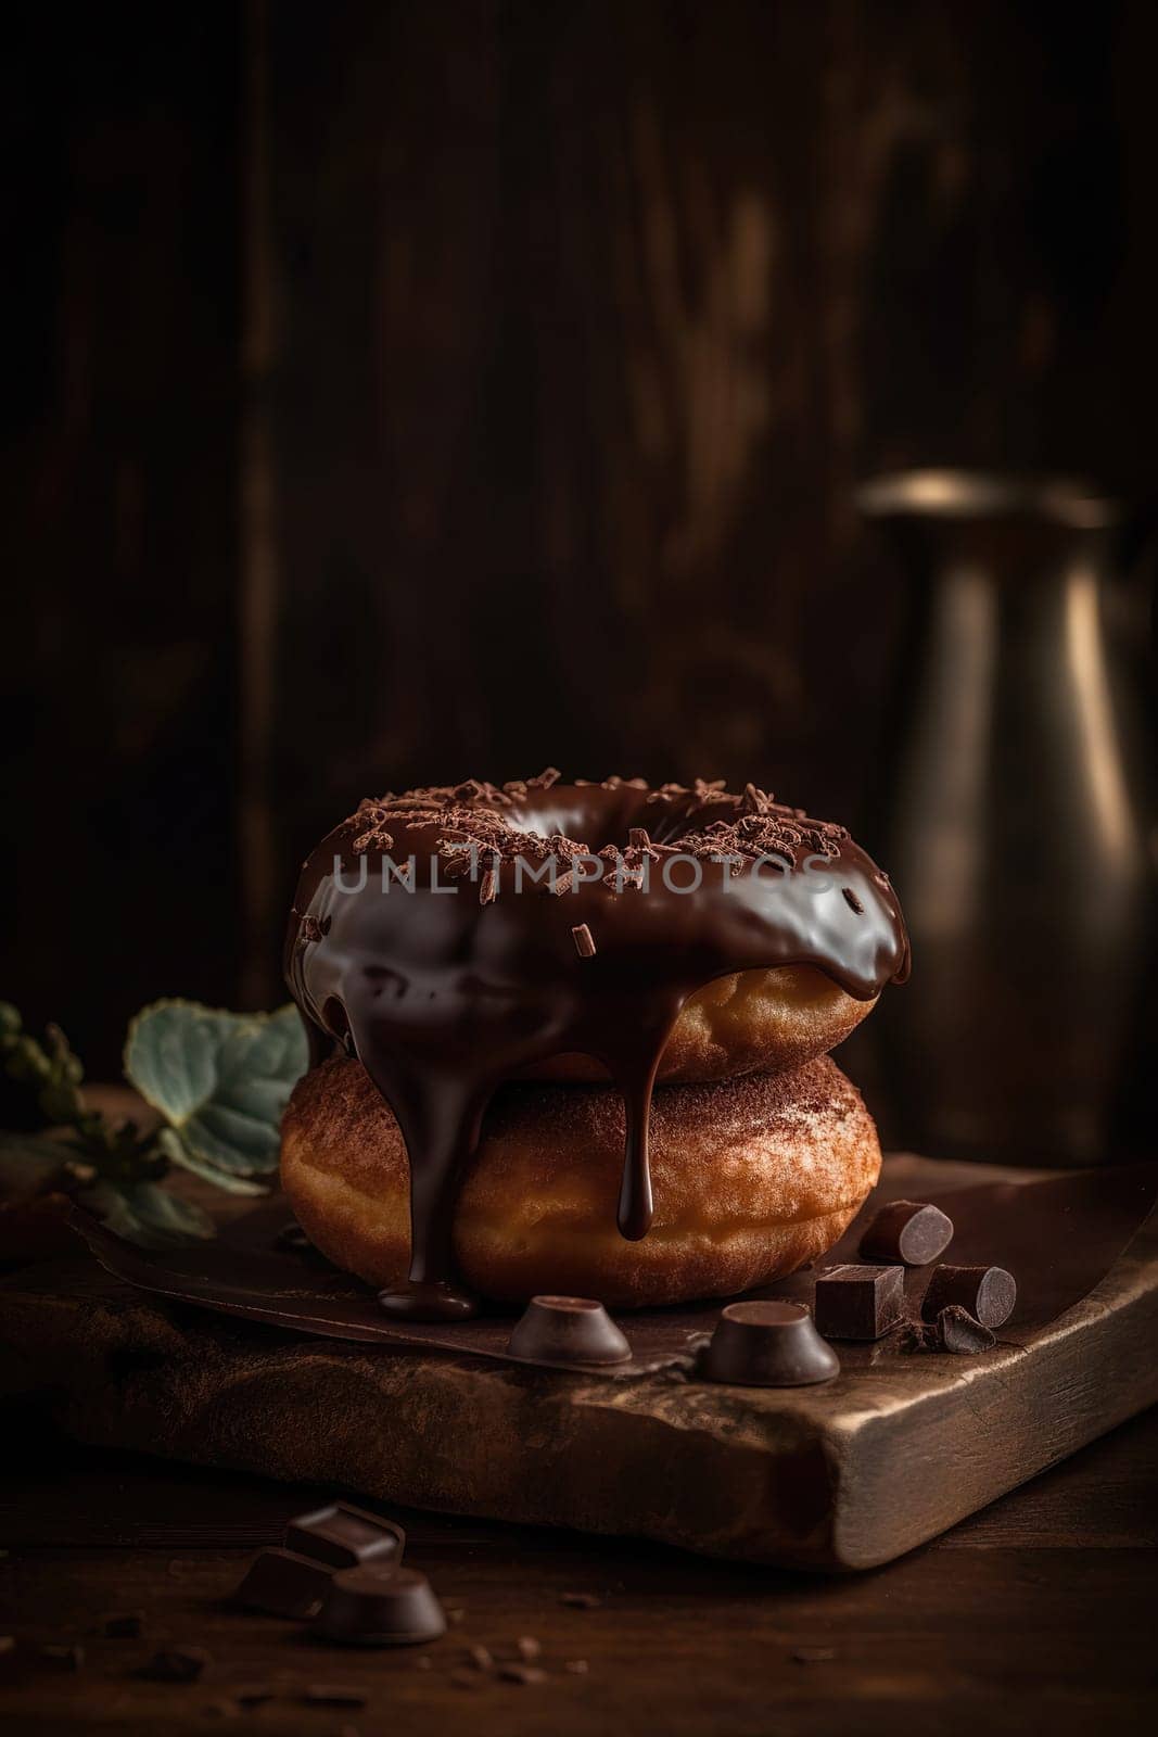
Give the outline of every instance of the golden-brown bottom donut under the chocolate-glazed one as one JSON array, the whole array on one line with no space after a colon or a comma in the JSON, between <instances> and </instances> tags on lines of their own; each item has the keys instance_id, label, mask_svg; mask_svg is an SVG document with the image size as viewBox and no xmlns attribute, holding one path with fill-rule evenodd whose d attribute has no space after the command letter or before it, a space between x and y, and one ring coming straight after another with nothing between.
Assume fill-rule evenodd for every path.
<instances>
[{"instance_id":1,"label":"golden-brown bottom donut under the chocolate-glazed one","mask_svg":"<svg viewBox=\"0 0 1158 1737\"><path fill-rule=\"evenodd\" d=\"M620 1308L731 1296L830 1249L880 1171L873 1120L826 1056L792 1073L656 1093L656 1212L642 1242L615 1225L622 1155L615 1089L505 1087L458 1199L467 1284L498 1301L566 1291ZM373 1285L405 1275L406 1153L358 1061L328 1061L299 1082L281 1179L332 1261Z\"/></svg>"}]
</instances>

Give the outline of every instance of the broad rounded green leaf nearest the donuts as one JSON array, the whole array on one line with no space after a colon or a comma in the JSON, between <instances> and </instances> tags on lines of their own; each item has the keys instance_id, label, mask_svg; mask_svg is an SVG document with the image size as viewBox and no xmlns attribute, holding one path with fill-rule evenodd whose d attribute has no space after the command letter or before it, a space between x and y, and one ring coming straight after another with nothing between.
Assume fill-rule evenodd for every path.
<instances>
[{"instance_id":1,"label":"broad rounded green leaf nearest the donuts","mask_svg":"<svg viewBox=\"0 0 1158 1737\"><path fill-rule=\"evenodd\" d=\"M281 1113L306 1067L293 1006L240 1014L158 1001L125 1044L125 1073L181 1134L182 1157L170 1157L214 1181L276 1169Z\"/></svg>"}]
</instances>

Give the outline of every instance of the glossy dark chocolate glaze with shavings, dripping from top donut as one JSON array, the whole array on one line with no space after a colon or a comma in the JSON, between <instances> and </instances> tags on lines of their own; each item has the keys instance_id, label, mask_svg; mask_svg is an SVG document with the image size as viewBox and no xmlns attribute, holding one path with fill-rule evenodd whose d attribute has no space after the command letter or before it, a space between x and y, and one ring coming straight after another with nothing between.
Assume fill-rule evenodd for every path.
<instances>
[{"instance_id":1,"label":"glossy dark chocolate glaze with shavings, dripping from top donut","mask_svg":"<svg viewBox=\"0 0 1158 1737\"><path fill-rule=\"evenodd\" d=\"M625 1105L618 1226L637 1240L651 1091L696 990L813 966L868 1002L908 973L896 895L842 827L753 785L557 780L366 801L299 881L286 980L311 1060L356 1054L406 1143L410 1278L382 1304L411 1318L476 1310L451 1223L503 1080L573 1053L606 1068Z\"/></svg>"}]
</instances>

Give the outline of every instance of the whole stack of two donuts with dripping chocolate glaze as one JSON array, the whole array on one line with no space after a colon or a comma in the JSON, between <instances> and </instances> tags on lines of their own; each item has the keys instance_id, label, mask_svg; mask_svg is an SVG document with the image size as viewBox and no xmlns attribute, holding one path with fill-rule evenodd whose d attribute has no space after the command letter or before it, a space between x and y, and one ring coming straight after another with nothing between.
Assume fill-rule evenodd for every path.
<instances>
[{"instance_id":1,"label":"whole stack of two donuts with dripping chocolate glaze","mask_svg":"<svg viewBox=\"0 0 1158 1737\"><path fill-rule=\"evenodd\" d=\"M403 1315L745 1291L877 1179L828 1051L906 966L887 877L753 785L549 771L363 802L290 919L316 1065L285 1190Z\"/></svg>"}]
</instances>

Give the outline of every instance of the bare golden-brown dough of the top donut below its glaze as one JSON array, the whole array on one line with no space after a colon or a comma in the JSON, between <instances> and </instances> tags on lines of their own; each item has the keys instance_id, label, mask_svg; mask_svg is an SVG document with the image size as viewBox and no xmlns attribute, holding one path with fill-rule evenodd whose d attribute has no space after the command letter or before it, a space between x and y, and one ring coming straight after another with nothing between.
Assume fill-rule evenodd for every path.
<instances>
[{"instance_id":1,"label":"bare golden-brown dough of the top donut below its glaze","mask_svg":"<svg viewBox=\"0 0 1158 1737\"><path fill-rule=\"evenodd\" d=\"M684 1004L660 1060L663 1086L786 1073L828 1054L856 1030L875 1001L856 1001L814 966L733 971ZM533 1080L602 1080L594 1056L550 1056L526 1068Z\"/></svg>"}]
</instances>

